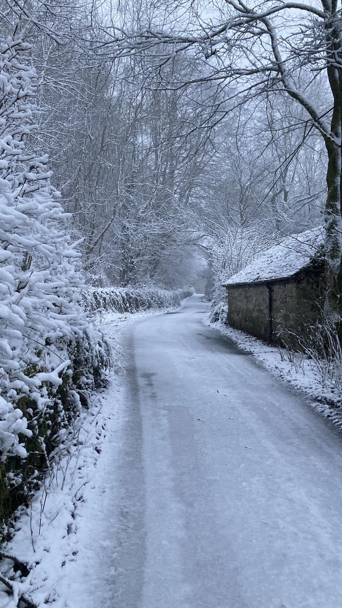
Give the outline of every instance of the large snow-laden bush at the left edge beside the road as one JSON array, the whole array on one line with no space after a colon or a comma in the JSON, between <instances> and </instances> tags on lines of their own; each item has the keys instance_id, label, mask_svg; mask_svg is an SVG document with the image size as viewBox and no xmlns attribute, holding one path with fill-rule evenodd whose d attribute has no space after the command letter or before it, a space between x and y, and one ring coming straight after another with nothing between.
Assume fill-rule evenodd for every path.
<instances>
[{"instance_id":1,"label":"large snow-laden bush at the left edge beside the road","mask_svg":"<svg viewBox=\"0 0 342 608\"><path fill-rule=\"evenodd\" d=\"M79 302L82 277L37 129L30 47L0 40L0 522L85 404L108 353Z\"/></svg>"}]
</instances>

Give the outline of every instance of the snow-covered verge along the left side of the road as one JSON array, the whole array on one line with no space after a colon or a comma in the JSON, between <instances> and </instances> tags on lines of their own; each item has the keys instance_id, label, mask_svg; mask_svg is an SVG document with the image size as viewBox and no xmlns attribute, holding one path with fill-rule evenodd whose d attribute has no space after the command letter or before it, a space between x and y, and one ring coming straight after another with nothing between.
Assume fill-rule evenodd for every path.
<instances>
[{"instance_id":1,"label":"snow-covered verge along the left side of the road","mask_svg":"<svg viewBox=\"0 0 342 608\"><path fill-rule=\"evenodd\" d=\"M29 507L22 507L18 513L12 540L1 547L3 554L15 556L30 572L20 578L18 570L12 582L13 561L0 560L0 576L7 581L10 578L14 592L9 594L0 582L0 608L16 608L21 596L32 598L37 607L52 603L55 608L83 606L82 598L72 596L69 583L84 578L85 573L89 579L92 575L87 563L89 547L85 550L88 527L95 525L103 511L106 469L115 466L125 419L122 334L129 323L156 312L106 313L98 320L113 353L108 387L94 396L91 408L75 421L72 434L58 448L43 486ZM94 530L93 550L96 542L106 541L97 541ZM27 605L19 603L20 608Z\"/></svg>"}]
</instances>

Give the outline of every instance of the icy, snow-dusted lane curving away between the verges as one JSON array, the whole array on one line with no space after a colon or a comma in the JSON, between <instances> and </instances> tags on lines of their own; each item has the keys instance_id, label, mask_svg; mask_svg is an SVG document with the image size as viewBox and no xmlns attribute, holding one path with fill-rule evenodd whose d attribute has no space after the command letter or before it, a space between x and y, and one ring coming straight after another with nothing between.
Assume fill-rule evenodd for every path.
<instances>
[{"instance_id":1,"label":"icy, snow-dusted lane curving away between the verges","mask_svg":"<svg viewBox=\"0 0 342 608\"><path fill-rule=\"evenodd\" d=\"M341 608L341 435L204 326L206 310L194 296L128 330L89 606Z\"/></svg>"}]
</instances>

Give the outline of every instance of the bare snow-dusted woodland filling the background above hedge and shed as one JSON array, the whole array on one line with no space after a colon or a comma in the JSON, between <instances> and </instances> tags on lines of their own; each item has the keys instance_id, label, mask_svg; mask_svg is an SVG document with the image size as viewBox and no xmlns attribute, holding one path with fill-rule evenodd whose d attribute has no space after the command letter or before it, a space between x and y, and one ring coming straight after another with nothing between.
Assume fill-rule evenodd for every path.
<instances>
[{"instance_id":1,"label":"bare snow-dusted woodland filling the background above hedge and shed","mask_svg":"<svg viewBox=\"0 0 342 608\"><path fill-rule=\"evenodd\" d=\"M319 10L223 2L207 19L173 2L113 2L105 12L82 0L53 10L38 0L2 4L33 47L44 109L36 142L49 151L89 283L183 284L179 261L190 250L211 257L223 232L260 221L268 243L321 223L323 211L337 289L328 136L291 93L315 100L326 124ZM309 38L324 38L316 55L297 27L303 14Z\"/></svg>"}]
</instances>

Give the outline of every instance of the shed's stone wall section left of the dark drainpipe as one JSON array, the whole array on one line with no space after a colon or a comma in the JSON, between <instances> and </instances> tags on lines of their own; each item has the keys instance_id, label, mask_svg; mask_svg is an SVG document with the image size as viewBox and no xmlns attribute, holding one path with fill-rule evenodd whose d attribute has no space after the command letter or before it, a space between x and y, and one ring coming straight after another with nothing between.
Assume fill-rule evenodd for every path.
<instances>
[{"instance_id":1,"label":"shed's stone wall section left of the dark drainpipe","mask_svg":"<svg viewBox=\"0 0 342 608\"><path fill-rule=\"evenodd\" d=\"M228 323L268 340L268 288L265 285L228 289Z\"/></svg>"}]
</instances>

